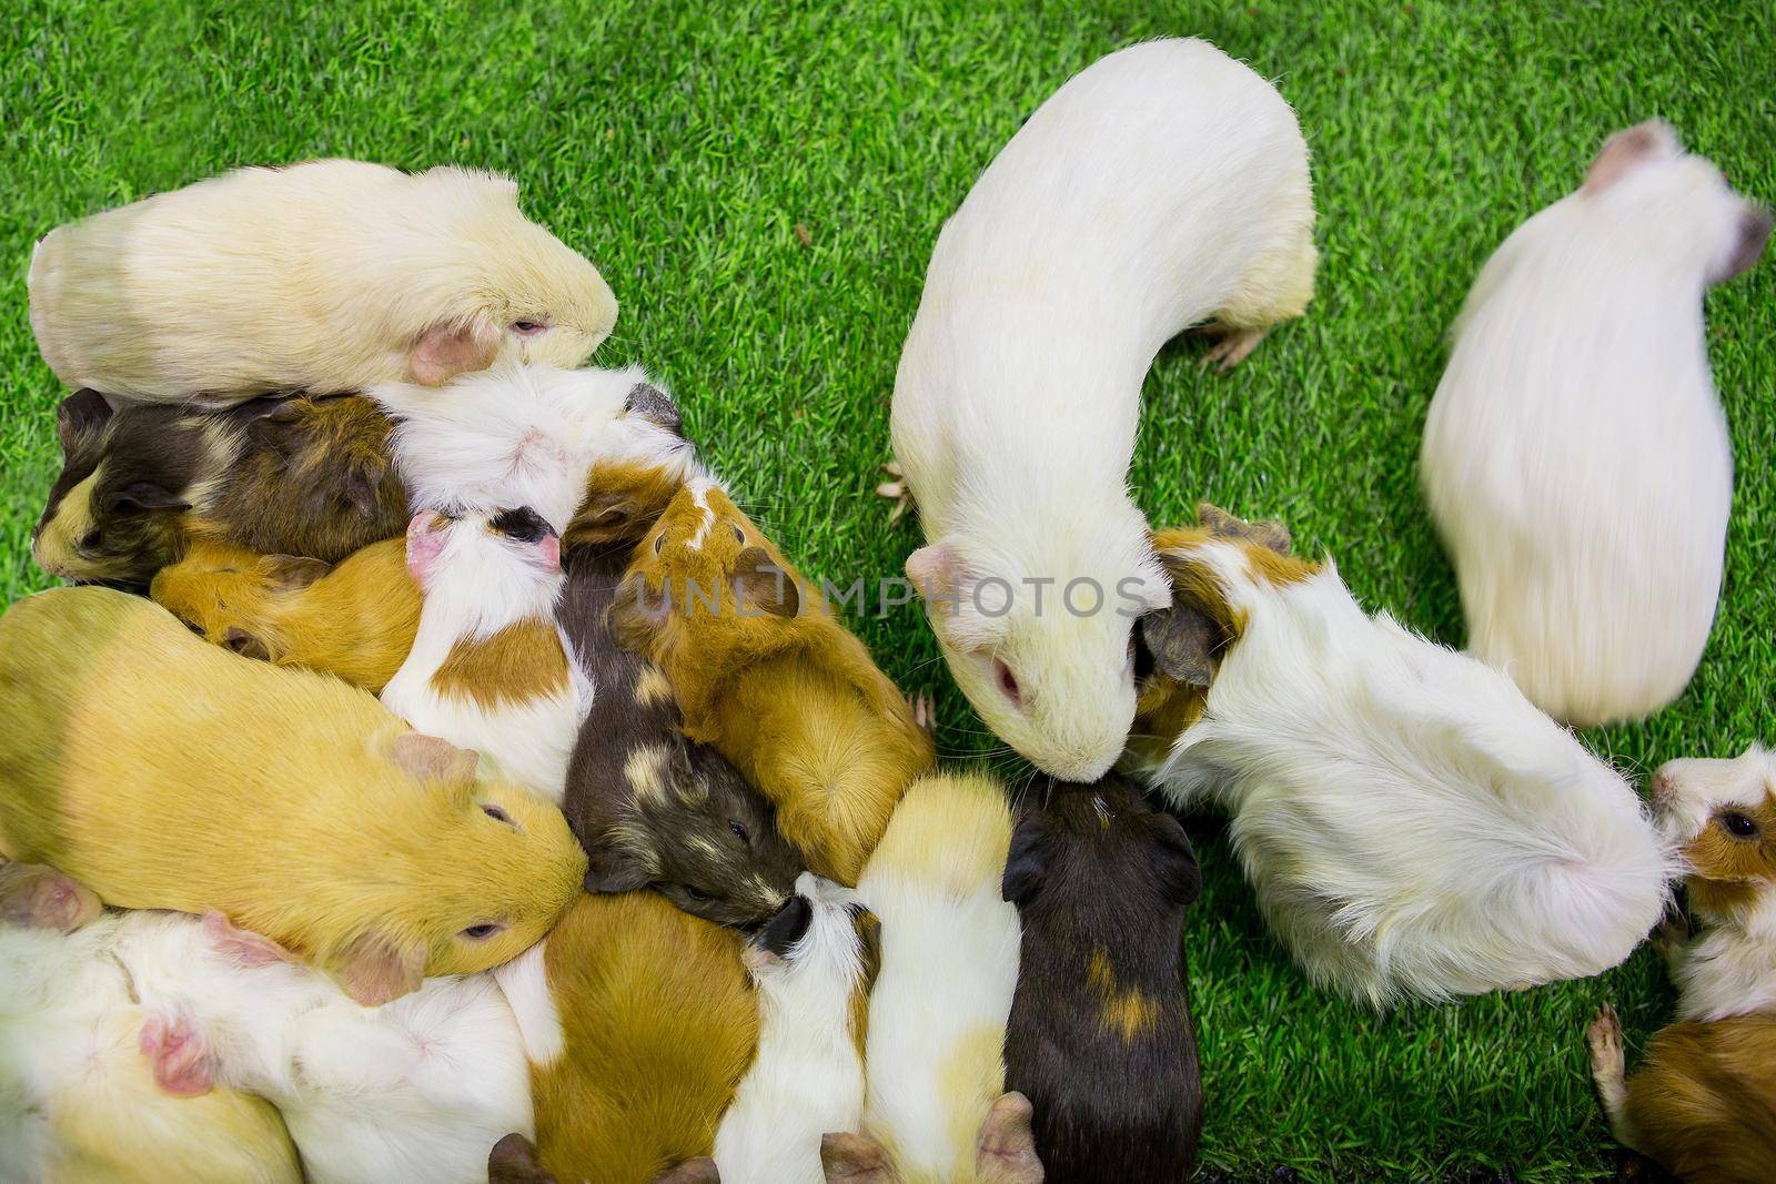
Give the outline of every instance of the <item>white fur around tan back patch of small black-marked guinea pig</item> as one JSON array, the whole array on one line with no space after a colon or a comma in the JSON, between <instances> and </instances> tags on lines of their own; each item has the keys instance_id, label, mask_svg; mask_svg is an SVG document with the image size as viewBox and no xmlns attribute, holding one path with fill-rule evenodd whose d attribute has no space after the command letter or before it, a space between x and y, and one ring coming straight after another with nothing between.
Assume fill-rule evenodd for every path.
<instances>
[{"instance_id":1,"label":"white fur around tan back patch of small black-marked guinea pig","mask_svg":"<svg viewBox=\"0 0 1776 1184\"><path fill-rule=\"evenodd\" d=\"M440 527L446 541L421 580L424 602L414 648L380 698L416 730L478 751L490 765L487 776L515 781L559 806L574 738L591 705L574 648L554 623L561 564L543 564L536 543L496 534L487 522L487 515L474 515ZM556 632L567 657L567 687L483 706L433 685L432 676L458 641L485 641L522 621L547 621Z\"/></svg>"}]
</instances>

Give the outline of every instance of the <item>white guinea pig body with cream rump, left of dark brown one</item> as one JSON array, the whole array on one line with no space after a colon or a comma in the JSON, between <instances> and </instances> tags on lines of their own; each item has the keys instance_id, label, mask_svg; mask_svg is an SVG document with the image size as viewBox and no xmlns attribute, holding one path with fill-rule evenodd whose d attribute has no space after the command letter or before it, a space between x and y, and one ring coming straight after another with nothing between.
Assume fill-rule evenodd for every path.
<instances>
[{"instance_id":1,"label":"white guinea pig body with cream rump, left of dark brown one","mask_svg":"<svg viewBox=\"0 0 1776 1184\"><path fill-rule=\"evenodd\" d=\"M936 793L955 802L927 801ZM971 793L998 801L964 804ZM1003 1090L1005 1019L1018 987L1023 930L1018 907L1000 889L1011 822L957 831L952 850L927 856L922 866L886 863L881 856L893 849L895 825L924 809L1005 815L1009 808L991 783L915 783L858 880L858 896L883 927L863 1058L863 1133L890 1150L902 1179L971 1180L977 1133ZM980 850L984 833L998 834L996 850ZM980 1070L979 1081L970 1069Z\"/></svg>"}]
</instances>

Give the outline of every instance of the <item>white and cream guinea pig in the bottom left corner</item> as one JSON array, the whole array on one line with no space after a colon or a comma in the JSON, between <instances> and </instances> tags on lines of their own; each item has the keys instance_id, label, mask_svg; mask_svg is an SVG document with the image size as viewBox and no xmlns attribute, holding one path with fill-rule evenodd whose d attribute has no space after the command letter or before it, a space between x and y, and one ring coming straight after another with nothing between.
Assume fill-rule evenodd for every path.
<instances>
[{"instance_id":1,"label":"white and cream guinea pig in the bottom left corner","mask_svg":"<svg viewBox=\"0 0 1776 1184\"><path fill-rule=\"evenodd\" d=\"M0 1180L300 1184L270 1102L155 1086L131 996L153 951L124 959L119 939L172 925L197 918L112 912L73 932L0 923Z\"/></svg>"}]
</instances>

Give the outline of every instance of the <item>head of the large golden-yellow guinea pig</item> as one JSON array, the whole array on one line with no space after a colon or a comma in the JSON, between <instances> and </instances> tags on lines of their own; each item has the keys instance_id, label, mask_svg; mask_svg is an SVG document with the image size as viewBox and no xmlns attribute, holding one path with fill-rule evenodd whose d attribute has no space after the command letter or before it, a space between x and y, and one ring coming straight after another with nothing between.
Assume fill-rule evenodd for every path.
<instances>
[{"instance_id":1,"label":"head of the large golden-yellow guinea pig","mask_svg":"<svg viewBox=\"0 0 1776 1184\"><path fill-rule=\"evenodd\" d=\"M341 849L362 850L336 891L355 932L320 951L359 1003L424 975L469 975L536 944L579 895L586 854L561 811L513 785L478 781L476 756L403 731L384 742L391 776ZM325 904L325 902L323 902Z\"/></svg>"}]
</instances>

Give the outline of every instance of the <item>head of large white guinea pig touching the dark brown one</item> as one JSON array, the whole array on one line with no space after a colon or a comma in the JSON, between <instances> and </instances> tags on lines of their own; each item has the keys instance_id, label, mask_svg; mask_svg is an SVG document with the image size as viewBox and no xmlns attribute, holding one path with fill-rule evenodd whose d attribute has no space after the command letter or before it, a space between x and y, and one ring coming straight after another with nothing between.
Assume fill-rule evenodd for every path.
<instances>
[{"instance_id":1,"label":"head of large white guinea pig touching the dark brown one","mask_svg":"<svg viewBox=\"0 0 1776 1184\"><path fill-rule=\"evenodd\" d=\"M975 712L1069 781L1103 776L1122 751L1135 719L1131 628L1170 602L1140 513L1122 509L1121 529L1101 536L1043 524L1034 550L1016 556L996 540L947 538L906 561Z\"/></svg>"}]
</instances>

